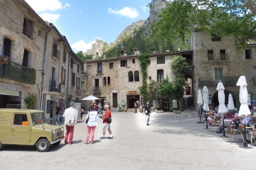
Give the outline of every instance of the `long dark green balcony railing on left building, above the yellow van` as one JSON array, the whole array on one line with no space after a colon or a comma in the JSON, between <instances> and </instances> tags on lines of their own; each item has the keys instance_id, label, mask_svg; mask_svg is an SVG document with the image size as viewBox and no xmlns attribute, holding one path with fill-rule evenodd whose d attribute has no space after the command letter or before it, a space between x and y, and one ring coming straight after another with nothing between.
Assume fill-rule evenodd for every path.
<instances>
[{"instance_id":1,"label":"long dark green balcony railing on left building, above the yellow van","mask_svg":"<svg viewBox=\"0 0 256 170\"><path fill-rule=\"evenodd\" d=\"M7 64L0 64L0 77L35 84L36 71L9 60Z\"/></svg>"}]
</instances>

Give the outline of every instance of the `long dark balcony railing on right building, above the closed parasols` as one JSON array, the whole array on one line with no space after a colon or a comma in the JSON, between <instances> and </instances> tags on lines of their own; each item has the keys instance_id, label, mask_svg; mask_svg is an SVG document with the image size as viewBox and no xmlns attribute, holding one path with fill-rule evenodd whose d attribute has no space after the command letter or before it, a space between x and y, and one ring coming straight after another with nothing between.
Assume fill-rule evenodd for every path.
<instances>
[{"instance_id":1,"label":"long dark balcony railing on right building, above the closed parasols","mask_svg":"<svg viewBox=\"0 0 256 170\"><path fill-rule=\"evenodd\" d=\"M225 85L234 85L237 84L239 77L223 77L222 79L215 79L215 78L199 78L198 84L199 85L217 85L219 81Z\"/></svg>"}]
</instances>

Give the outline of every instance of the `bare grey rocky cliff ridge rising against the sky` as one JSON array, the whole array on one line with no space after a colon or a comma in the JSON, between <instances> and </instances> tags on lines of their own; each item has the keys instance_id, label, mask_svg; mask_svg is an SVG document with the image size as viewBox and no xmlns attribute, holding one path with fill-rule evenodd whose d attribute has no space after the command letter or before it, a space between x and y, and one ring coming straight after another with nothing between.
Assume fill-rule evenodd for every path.
<instances>
[{"instance_id":1,"label":"bare grey rocky cliff ridge rising against the sky","mask_svg":"<svg viewBox=\"0 0 256 170\"><path fill-rule=\"evenodd\" d=\"M150 16L146 20L137 20L136 22L132 23L131 26L126 27L117 37L114 43L106 43L102 40L96 39L96 42L92 44L90 50L87 50L85 54L90 55L92 54L95 58L96 53L99 53L99 56L103 54L104 51L107 51L109 48L116 46L118 43L122 41L123 38L129 36L134 36L134 32L138 29L144 27L145 31L143 33L143 37L146 38L150 32L152 23L158 20L157 16L159 15L160 11L166 7L166 0L155 0L154 5L150 9Z\"/></svg>"}]
</instances>

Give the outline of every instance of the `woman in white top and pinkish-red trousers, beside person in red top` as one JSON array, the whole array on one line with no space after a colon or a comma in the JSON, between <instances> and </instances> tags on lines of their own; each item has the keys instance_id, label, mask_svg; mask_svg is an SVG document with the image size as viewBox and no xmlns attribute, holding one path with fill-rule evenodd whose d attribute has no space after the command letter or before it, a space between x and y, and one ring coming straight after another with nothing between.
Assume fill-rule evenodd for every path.
<instances>
[{"instance_id":1,"label":"woman in white top and pinkish-red trousers, beside person in red top","mask_svg":"<svg viewBox=\"0 0 256 170\"><path fill-rule=\"evenodd\" d=\"M87 114L86 119L89 117L89 121L87 123L87 138L86 138L86 144L89 143L89 137L90 137L90 133L92 132L92 144L94 143L93 139L94 139L94 131L97 124L97 120L98 120L98 113L95 111L94 107L91 106L91 111Z\"/></svg>"}]
</instances>

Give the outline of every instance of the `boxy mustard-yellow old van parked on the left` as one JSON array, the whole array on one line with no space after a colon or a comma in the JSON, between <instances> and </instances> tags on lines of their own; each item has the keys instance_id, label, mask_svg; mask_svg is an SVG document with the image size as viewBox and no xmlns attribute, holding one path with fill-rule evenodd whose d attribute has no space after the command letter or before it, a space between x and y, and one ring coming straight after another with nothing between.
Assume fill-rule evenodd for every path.
<instances>
[{"instance_id":1,"label":"boxy mustard-yellow old van parked on the left","mask_svg":"<svg viewBox=\"0 0 256 170\"><path fill-rule=\"evenodd\" d=\"M46 152L63 138L63 127L48 125L41 110L0 109L0 150L4 144L36 144Z\"/></svg>"}]
</instances>

